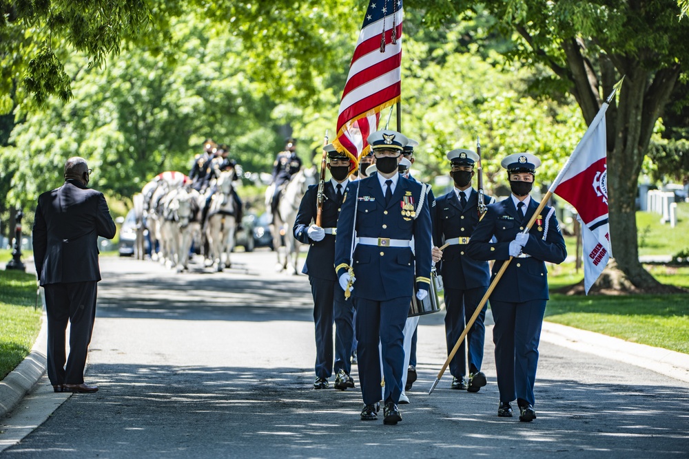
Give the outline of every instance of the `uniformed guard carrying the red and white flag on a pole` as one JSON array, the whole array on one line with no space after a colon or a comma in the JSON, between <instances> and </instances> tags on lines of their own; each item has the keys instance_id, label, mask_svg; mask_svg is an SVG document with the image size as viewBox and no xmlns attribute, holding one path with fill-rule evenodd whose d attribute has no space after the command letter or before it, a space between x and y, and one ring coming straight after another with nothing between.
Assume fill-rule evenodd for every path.
<instances>
[{"instance_id":1,"label":"uniformed guard carrying the red and white flag on a pole","mask_svg":"<svg viewBox=\"0 0 689 459\"><path fill-rule=\"evenodd\" d=\"M502 160L512 194L488 206L471 235L467 253L474 259L495 260L493 277L514 257L491 293L495 320L495 369L500 389L497 416L512 417L517 399L520 420L536 418L533 384L538 363L538 341L548 300L545 262L560 264L567 250L555 218L555 209L544 207L528 233L524 228L539 203L531 199L536 168L541 161L530 153L515 153ZM491 242L491 239L497 242Z\"/></svg>"}]
</instances>

